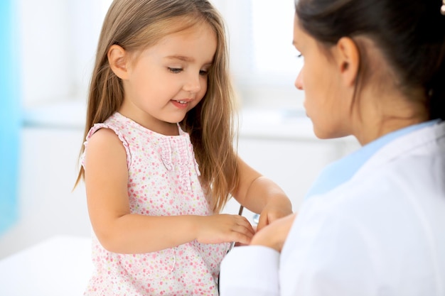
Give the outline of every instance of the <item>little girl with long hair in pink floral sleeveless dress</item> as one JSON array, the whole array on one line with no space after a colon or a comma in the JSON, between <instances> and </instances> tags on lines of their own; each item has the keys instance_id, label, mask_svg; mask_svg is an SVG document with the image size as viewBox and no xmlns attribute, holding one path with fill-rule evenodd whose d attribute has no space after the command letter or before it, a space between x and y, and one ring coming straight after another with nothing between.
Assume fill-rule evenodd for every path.
<instances>
[{"instance_id":1,"label":"little girl with long hair in pink floral sleeveless dress","mask_svg":"<svg viewBox=\"0 0 445 296\"><path fill-rule=\"evenodd\" d=\"M206 0L115 0L90 86L82 169L94 230L85 295L217 295L242 216L215 214L232 195L291 213L284 192L232 146L223 21Z\"/></svg>"}]
</instances>

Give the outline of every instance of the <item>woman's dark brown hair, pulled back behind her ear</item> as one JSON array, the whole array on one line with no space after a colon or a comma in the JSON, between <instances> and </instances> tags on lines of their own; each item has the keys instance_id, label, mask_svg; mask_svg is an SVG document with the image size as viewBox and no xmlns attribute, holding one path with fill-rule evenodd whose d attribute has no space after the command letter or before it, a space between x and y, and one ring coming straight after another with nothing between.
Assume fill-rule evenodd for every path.
<instances>
[{"instance_id":1,"label":"woman's dark brown hair, pulled back behind her ear","mask_svg":"<svg viewBox=\"0 0 445 296\"><path fill-rule=\"evenodd\" d=\"M445 119L445 16L442 0L296 0L299 26L330 48L342 37L360 50L357 85L368 75L360 36L372 40L395 74L397 87L422 99L430 119ZM415 95L422 90L422 96ZM422 98L419 98L422 97Z\"/></svg>"}]
</instances>

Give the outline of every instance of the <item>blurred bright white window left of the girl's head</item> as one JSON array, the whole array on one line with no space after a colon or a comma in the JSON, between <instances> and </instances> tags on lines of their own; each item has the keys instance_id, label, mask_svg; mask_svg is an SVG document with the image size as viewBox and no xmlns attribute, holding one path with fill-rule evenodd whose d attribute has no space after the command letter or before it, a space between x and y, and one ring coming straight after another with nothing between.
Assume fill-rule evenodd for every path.
<instances>
[{"instance_id":1,"label":"blurred bright white window left of the girl's head","mask_svg":"<svg viewBox=\"0 0 445 296\"><path fill-rule=\"evenodd\" d=\"M23 107L85 99L104 0L19 0Z\"/></svg>"}]
</instances>

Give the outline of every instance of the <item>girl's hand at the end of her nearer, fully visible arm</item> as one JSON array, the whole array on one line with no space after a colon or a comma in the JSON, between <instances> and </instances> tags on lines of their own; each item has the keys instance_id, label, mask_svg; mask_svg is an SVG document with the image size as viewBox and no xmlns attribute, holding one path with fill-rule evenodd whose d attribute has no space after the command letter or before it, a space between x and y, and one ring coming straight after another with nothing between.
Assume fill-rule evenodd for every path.
<instances>
[{"instance_id":1,"label":"girl's hand at the end of her nearer, fully visible arm","mask_svg":"<svg viewBox=\"0 0 445 296\"><path fill-rule=\"evenodd\" d=\"M225 243L236 241L250 243L255 231L244 217L231 214L199 216L196 240L200 243Z\"/></svg>"}]
</instances>

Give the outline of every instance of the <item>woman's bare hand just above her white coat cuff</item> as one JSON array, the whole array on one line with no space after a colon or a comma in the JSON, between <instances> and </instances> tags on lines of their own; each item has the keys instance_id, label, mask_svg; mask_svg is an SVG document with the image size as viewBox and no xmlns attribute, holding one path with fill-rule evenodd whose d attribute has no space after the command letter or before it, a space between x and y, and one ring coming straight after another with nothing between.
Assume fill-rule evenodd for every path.
<instances>
[{"instance_id":1,"label":"woman's bare hand just above her white coat cuff","mask_svg":"<svg viewBox=\"0 0 445 296\"><path fill-rule=\"evenodd\" d=\"M296 214L290 214L265 226L253 236L250 246L267 246L281 253L295 216Z\"/></svg>"}]
</instances>

